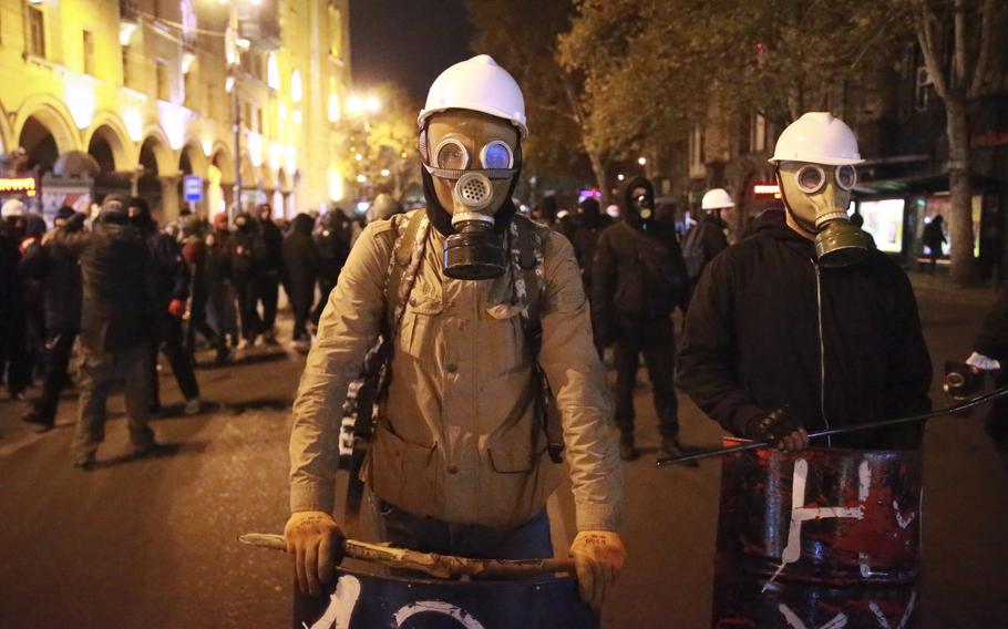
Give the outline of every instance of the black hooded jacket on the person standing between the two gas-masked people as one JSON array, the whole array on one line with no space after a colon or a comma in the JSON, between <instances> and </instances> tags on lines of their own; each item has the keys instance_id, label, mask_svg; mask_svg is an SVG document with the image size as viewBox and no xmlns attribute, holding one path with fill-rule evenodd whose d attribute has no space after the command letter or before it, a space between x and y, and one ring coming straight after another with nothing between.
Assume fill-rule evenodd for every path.
<instances>
[{"instance_id":1,"label":"black hooded jacket on the person standing between the two gas-masked people","mask_svg":"<svg viewBox=\"0 0 1008 629\"><path fill-rule=\"evenodd\" d=\"M592 267L593 321L598 339L611 340L617 316L634 319L664 318L686 297L686 264L671 223L640 217L635 188L654 189L642 178L624 190L624 216L598 238Z\"/></svg>"}]
</instances>

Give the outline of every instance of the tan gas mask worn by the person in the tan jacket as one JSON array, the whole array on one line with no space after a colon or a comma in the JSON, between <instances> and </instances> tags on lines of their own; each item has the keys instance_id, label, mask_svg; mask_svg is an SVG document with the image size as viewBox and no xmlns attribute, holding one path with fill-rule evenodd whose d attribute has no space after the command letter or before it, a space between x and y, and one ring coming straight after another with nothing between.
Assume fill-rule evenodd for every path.
<instances>
[{"instance_id":1,"label":"tan gas mask worn by the person in the tan jacket","mask_svg":"<svg viewBox=\"0 0 1008 629\"><path fill-rule=\"evenodd\" d=\"M433 178L454 234L444 240L444 275L493 279L507 257L494 215L504 206L518 173L518 132L508 121L466 110L431 117L420 136L423 167Z\"/></svg>"}]
</instances>

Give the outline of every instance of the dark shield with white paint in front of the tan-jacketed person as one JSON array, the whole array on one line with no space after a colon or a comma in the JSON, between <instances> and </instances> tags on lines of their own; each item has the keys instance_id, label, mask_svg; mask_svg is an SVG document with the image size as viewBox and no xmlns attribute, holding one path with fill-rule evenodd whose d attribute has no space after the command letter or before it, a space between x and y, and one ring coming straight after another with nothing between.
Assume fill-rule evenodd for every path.
<instances>
[{"instance_id":1,"label":"dark shield with white paint in front of the tan-jacketed person","mask_svg":"<svg viewBox=\"0 0 1008 629\"><path fill-rule=\"evenodd\" d=\"M573 578L446 581L339 569L327 596L295 598L297 629L595 629Z\"/></svg>"}]
</instances>

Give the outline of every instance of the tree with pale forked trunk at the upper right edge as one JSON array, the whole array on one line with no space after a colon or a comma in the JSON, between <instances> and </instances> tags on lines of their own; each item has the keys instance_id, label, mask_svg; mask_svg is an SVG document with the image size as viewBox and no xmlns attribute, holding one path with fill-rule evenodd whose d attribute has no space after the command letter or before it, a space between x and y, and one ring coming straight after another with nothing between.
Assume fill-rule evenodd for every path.
<instances>
[{"instance_id":1,"label":"tree with pale forked trunk at the upper right edge","mask_svg":"<svg viewBox=\"0 0 1008 629\"><path fill-rule=\"evenodd\" d=\"M928 78L945 102L952 278L969 283L976 279L969 107L992 79L994 47L1001 41L997 35L1005 32L1004 4L998 0L908 0L908 6ZM946 64L944 55L949 52Z\"/></svg>"}]
</instances>

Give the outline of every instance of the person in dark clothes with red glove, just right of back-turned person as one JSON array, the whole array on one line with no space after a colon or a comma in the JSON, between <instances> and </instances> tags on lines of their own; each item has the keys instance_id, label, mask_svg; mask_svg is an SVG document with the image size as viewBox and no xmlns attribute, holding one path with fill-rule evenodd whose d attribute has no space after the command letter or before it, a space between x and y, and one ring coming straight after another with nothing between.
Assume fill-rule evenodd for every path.
<instances>
[{"instance_id":1,"label":"person in dark clothes with red glove, just right of back-turned person","mask_svg":"<svg viewBox=\"0 0 1008 629\"><path fill-rule=\"evenodd\" d=\"M164 353L172 365L172 373L185 398L186 415L199 413L199 384L193 372L193 362L185 351L182 320L186 312L192 278L182 257L182 249L174 238L157 230L151 206L142 197L132 197L128 205L130 220L140 229L151 254L151 269L155 287L153 322L155 342L151 348L152 395L151 409L161 410L157 381L157 353Z\"/></svg>"}]
</instances>

